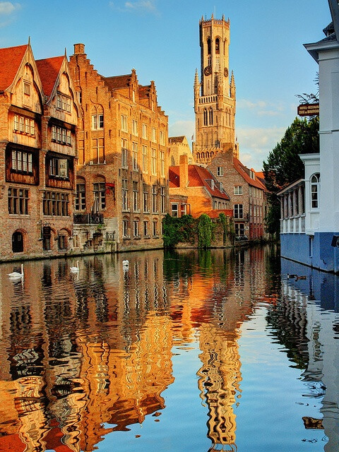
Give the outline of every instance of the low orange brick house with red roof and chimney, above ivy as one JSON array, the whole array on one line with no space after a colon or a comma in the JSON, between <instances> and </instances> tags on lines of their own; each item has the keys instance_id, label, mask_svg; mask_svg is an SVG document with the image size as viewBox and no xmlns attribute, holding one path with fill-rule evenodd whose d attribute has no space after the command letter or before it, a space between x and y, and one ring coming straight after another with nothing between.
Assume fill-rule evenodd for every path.
<instances>
[{"instance_id":1,"label":"low orange brick house with red roof and chimney, above ivy","mask_svg":"<svg viewBox=\"0 0 339 452\"><path fill-rule=\"evenodd\" d=\"M169 213L173 217L206 213L215 218L219 213L232 216L230 196L206 168L189 165L187 155L181 155L179 166L169 167Z\"/></svg>"}]
</instances>

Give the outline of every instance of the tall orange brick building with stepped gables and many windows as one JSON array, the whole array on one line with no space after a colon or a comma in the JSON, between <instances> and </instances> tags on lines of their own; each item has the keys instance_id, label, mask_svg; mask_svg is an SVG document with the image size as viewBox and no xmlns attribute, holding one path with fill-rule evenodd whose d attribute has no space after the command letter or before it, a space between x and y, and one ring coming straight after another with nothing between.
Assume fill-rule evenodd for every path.
<instances>
[{"instance_id":1,"label":"tall orange brick building with stepped gables and many windows","mask_svg":"<svg viewBox=\"0 0 339 452\"><path fill-rule=\"evenodd\" d=\"M75 245L78 250L162 247L167 212L167 116L153 81L133 69L101 76L84 44L74 45L72 76L83 110L78 133Z\"/></svg>"}]
</instances>

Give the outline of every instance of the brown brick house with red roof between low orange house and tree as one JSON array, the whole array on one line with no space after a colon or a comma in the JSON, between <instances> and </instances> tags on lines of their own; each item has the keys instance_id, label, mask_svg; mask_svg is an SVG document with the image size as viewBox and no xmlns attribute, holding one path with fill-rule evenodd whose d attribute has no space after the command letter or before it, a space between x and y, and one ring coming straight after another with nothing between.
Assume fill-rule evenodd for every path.
<instances>
[{"instance_id":1,"label":"brown brick house with red roof between low orange house and tree","mask_svg":"<svg viewBox=\"0 0 339 452\"><path fill-rule=\"evenodd\" d=\"M208 170L222 182L231 196L235 234L238 239L266 237L266 186L263 174L242 165L232 150L219 153Z\"/></svg>"}]
</instances>

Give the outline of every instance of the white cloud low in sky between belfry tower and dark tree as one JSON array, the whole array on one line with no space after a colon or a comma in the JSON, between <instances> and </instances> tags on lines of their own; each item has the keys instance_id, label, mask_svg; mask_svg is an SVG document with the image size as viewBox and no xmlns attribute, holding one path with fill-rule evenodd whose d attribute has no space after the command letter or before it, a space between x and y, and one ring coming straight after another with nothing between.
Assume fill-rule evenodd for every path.
<instances>
[{"instance_id":1,"label":"white cloud low in sky between belfry tower and dark tree","mask_svg":"<svg viewBox=\"0 0 339 452\"><path fill-rule=\"evenodd\" d=\"M275 145L283 138L285 127L273 129L237 129L239 158L247 167L260 171Z\"/></svg>"}]
</instances>

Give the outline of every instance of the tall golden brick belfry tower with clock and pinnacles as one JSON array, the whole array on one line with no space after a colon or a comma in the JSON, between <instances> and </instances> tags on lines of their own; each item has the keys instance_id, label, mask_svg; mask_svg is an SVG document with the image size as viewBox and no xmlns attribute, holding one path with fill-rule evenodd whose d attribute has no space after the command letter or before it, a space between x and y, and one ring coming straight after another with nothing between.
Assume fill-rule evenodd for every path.
<instances>
[{"instance_id":1,"label":"tall golden brick belfry tower with clock and pinnacles","mask_svg":"<svg viewBox=\"0 0 339 452\"><path fill-rule=\"evenodd\" d=\"M199 22L201 47L201 83L198 71L194 78L194 112L196 163L208 165L217 153L232 150L239 157L235 138L235 83L230 74L230 20Z\"/></svg>"}]
</instances>

